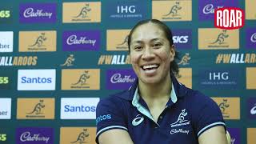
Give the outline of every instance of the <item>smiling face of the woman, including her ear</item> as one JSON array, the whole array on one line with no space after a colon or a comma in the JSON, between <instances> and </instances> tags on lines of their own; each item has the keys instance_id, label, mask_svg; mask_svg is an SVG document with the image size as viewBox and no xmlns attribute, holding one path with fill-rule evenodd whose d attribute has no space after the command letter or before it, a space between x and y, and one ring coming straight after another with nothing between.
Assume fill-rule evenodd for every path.
<instances>
[{"instance_id":1,"label":"smiling face of the woman, including her ear","mask_svg":"<svg viewBox=\"0 0 256 144\"><path fill-rule=\"evenodd\" d=\"M138 26L131 35L130 62L143 83L163 82L170 74L174 56L174 46L170 46L164 31L154 23Z\"/></svg>"}]
</instances>

